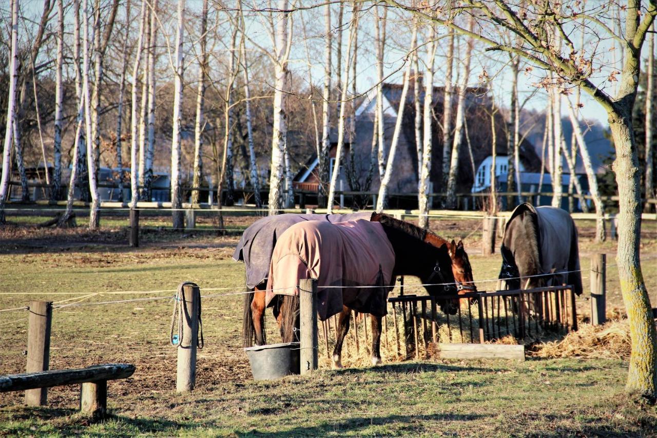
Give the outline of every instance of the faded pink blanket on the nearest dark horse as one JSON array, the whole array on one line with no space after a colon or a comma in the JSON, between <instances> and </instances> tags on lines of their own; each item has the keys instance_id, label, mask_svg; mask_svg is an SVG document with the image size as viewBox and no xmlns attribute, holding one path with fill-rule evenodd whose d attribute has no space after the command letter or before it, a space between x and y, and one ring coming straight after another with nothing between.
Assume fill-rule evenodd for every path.
<instances>
[{"instance_id":1,"label":"faded pink blanket on the nearest dark horse","mask_svg":"<svg viewBox=\"0 0 657 438\"><path fill-rule=\"evenodd\" d=\"M321 320L342 312L343 306L383 316L394 266L394 249L378 222L300 222L276 242L266 303L276 294L298 295L300 279L316 278Z\"/></svg>"}]
</instances>

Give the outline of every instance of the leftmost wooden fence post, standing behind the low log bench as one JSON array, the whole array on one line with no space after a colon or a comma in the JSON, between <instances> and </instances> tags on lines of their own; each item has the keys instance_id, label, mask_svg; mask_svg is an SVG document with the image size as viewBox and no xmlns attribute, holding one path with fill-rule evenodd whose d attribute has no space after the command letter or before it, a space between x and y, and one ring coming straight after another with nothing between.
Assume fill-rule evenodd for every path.
<instances>
[{"instance_id":1,"label":"leftmost wooden fence post, standing behind the low log bench","mask_svg":"<svg viewBox=\"0 0 657 438\"><path fill-rule=\"evenodd\" d=\"M28 328L28 364L26 372L47 371L50 364L50 329L53 322L52 301L31 301ZM25 404L43 406L48 399L48 389L28 389Z\"/></svg>"}]
</instances>

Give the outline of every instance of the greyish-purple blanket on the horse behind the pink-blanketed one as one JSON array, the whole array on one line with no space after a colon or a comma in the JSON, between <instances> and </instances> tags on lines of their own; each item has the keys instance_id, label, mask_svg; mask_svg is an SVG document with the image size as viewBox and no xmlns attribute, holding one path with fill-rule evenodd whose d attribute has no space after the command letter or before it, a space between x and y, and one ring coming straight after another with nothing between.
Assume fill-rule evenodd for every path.
<instances>
[{"instance_id":1,"label":"greyish-purple blanket on the horse behind the pink-blanketed one","mask_svg":"<svg viewBox=\"0 0 657 438\"><path fill-rule=\"evenodd\" d=\"M347 214L277 214L256 220L244 233L235 247L233 260L246 265L246 287L253 289L269 276L271 255L277 239L285 230L299 222L320 220L323 222L345 222L350 220L370 220L371 212Z\"/></svg>"}]
</instances>

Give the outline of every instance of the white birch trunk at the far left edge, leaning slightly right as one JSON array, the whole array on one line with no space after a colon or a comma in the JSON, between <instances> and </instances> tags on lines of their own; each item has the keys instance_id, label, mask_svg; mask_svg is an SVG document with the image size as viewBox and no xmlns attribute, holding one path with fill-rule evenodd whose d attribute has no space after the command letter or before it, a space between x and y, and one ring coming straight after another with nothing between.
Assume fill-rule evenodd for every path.
<instances>
[{"instance_id":1,"label":"white birch trunk at the far left edge, leaning slightly right","mask_svg":"<svg viewBox=\"0 0 657 438\"><path fill-rule=\"evenodd\" d=\"M0 224L5 223L5 203L9 198L11 181L11 146L16 117L16 82L18 80L18 0L11 0L11 59L9 60L9 96L7 98L7 127L3 149L2 179L0 180Z\"/></svg>"}]
</instances>

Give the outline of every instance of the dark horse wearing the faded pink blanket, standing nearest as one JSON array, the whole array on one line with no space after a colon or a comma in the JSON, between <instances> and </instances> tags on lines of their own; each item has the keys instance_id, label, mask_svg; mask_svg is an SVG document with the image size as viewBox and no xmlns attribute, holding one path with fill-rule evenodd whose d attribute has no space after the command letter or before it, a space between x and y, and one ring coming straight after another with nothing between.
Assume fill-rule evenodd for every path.
<instances>
[{"instance_id":1,"label":"dark horse wearing the faded pink blanket, standing nearest","mask_svg":"<svg viewBox=\"0 0 657 438\"><path fill-rule=\"evenodd\" d=\"M392 219L290 226L276 242L265 295L267 305L284 295L278 318L283 342L293 341L298 328L299 280L316 278L319 318L340 315L333 367L342 368L351 310L372 315L372 362L380 364L381 319L396 276L418 276L432 295L456 291L447 246L434 247L423 237L419 228Z\"/></svg>"}]
</instances>

